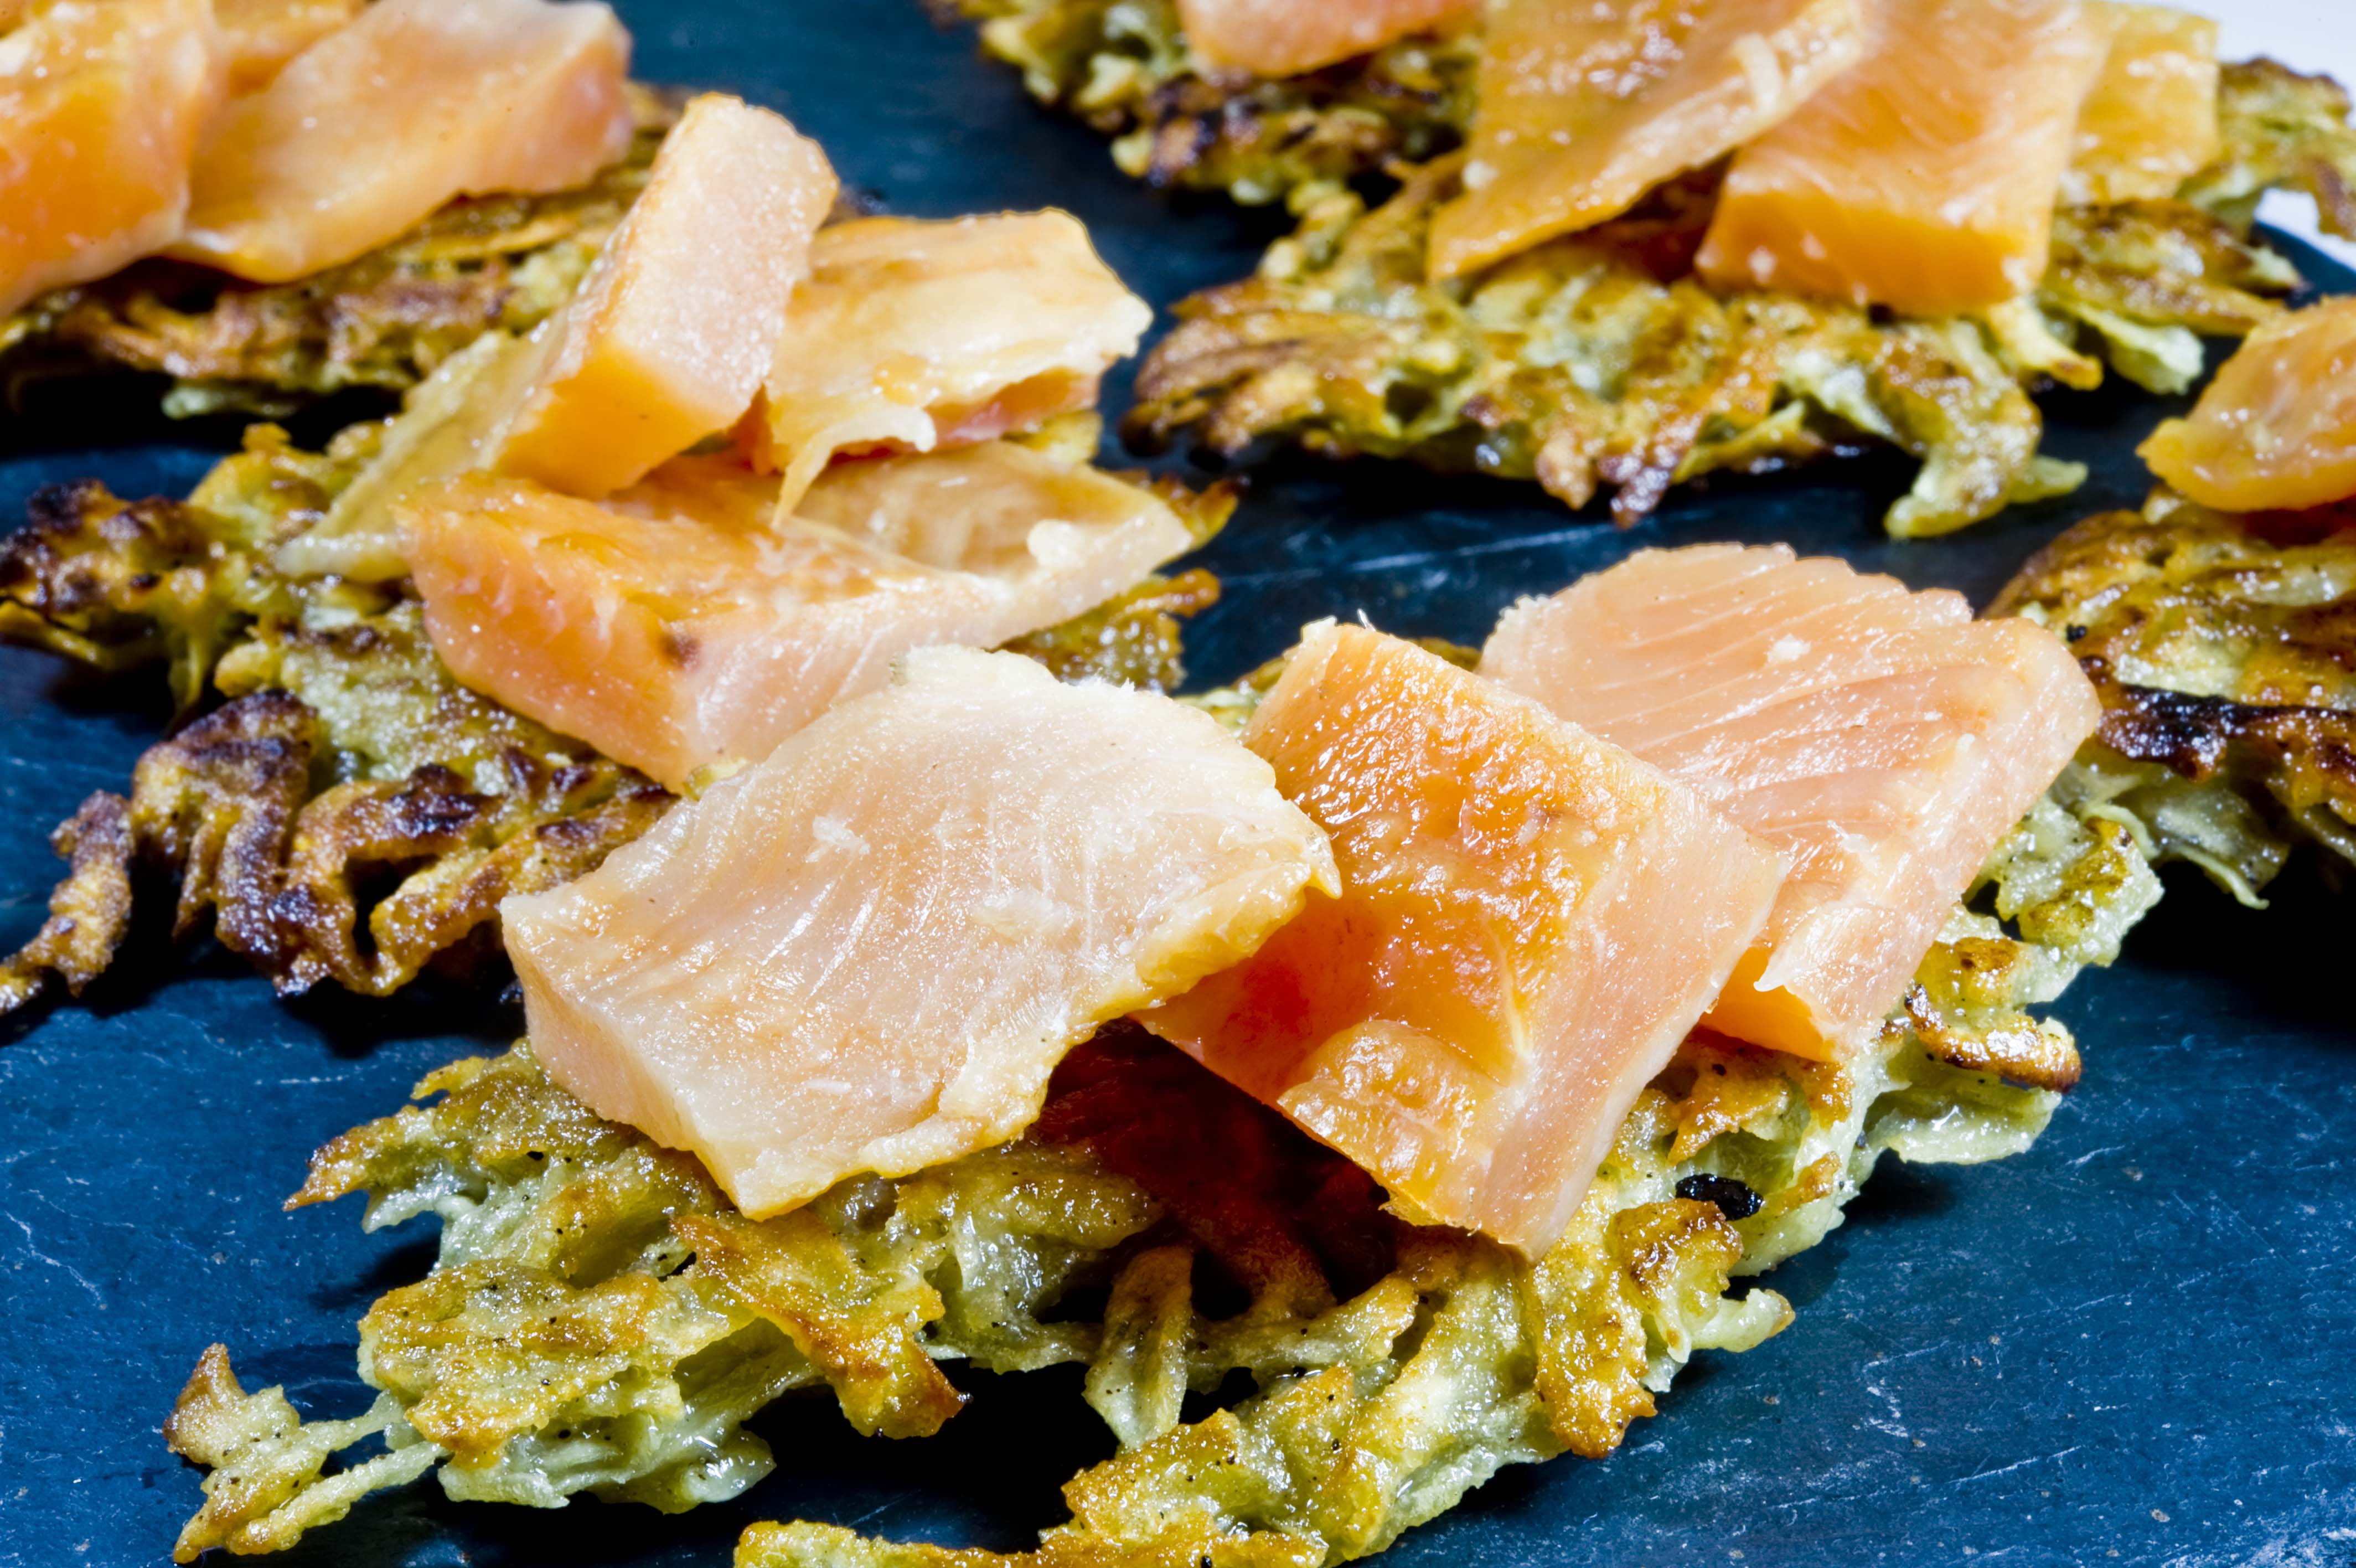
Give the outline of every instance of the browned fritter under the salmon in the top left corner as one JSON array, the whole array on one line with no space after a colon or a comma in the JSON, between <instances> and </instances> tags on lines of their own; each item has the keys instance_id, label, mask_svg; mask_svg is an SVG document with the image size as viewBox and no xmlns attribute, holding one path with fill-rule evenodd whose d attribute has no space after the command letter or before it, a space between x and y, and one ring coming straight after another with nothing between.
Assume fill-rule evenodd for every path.
<instances>
[{"instance_id":1,"label":"browned fritter under the salmon in the top left corner","mask_svg":"<svg viewBox=\"0 0 2356 1568\"><path fill-rule=\"evenodd\" d=\"M483 332L528 332L573 297L679 118L671 94L636 87L631 104L629 156L577 191L457 200L294 283L144 262L0 318L0 377L90 361L158 370L174 380L174 415L287 413L346 387L410 387Z\"/></svg>"}]
</instances>

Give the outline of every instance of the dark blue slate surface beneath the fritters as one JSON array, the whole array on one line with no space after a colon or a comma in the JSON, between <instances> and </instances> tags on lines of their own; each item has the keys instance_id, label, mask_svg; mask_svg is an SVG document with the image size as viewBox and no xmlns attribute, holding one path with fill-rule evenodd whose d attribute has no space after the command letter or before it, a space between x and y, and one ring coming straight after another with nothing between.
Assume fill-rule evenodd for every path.
<instances>
[{"instance_id":1,"label":"dark blue slate surface beneath the fritters","mask_svg":"<svg viewBox=\"0 0 2356 1568\"><path fill-rule=\"evenodd\" d=\"M1034 113L914 0L622 9L646 75L775 104L898 212L1070 207L1159 304L1242 276L1282 226L1133 189L1091 134ZM2356 288L2314 252L2297 259ZM1279 462L1211 552L1227 601L1192 637L1197 674L1227 679L1298 622L1362 608L1477 641L1513 597L1656 542L1791 540L1984 601L2062 523L2142 495L2132 446L2160 413L2130 394L2057 401L2052 450L2092 462L2092 483L1920 545L1875 523L1906 481L1897 462L1677 495L1635 533L1517 486ZM82 474L179 493L231 434L163 429L120 391L0 424L0 516ZM155 686L0 653L0 941L40 920L47 825L120 788L153 738ZM2285 877L2264 915L2172 877L2127 960L2062 1002L2087 1080L2033 1153L1887 1162L1847 1228L1772 1276L1800 1309L1786 1335L1701 1356L1614 1460L1508 1471L1395 1561L2347 1568L2347 908L2311 872ZM516 1028L488 995L450 990L280 1004L219 950L146 936L90 1004L0 1033L0 1561L165 1559L198 1485L158 1424L212 1339L247 1384L285 1382L306 1412L368 1403L353 1318L424 1269L431 1236L370 1238L353 1203L283 1214L278 1200L318 1141ZM1074 1375L966 1382L980 1398L928 1443L860 1441L829 1401L773 1410L761 1431L777 1474L735 1504L537 1514L412 1488L285 1561L719 1566L747 1521L773 1516L1027 1544L1060 1518L1055 1485L1110 1443Z\"/></svg>"}]
</instances>

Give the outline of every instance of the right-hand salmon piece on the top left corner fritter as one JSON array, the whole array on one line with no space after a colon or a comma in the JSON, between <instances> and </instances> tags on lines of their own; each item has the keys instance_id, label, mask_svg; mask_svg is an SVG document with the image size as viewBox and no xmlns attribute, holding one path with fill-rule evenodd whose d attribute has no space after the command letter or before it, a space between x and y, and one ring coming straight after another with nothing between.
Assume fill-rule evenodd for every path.
<instances>
[{"instance_id":1,"label":"right-hand salmon piece on the top left corner fritter","mask_svg":"<svg viewBox=\"0 0 2356 1568\"><path fill-rule=\"evenodd\" d=\"M591 0L377 0L221 113L172 255L285 283L457 196L577 186L629 149L627 78Z\"/></svg>"}]
</instances>

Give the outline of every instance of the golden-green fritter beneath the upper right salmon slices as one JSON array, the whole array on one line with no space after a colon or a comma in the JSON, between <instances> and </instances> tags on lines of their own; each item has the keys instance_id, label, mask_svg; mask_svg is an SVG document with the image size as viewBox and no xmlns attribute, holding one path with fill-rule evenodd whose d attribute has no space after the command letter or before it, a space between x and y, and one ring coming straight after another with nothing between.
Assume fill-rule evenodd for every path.
<instances>
[{"instance_id":1,"label":"golden-green fritter beneath the upper right salmon slices","mask_svg":"<svg viewBox=\"0 0 2356 1568\"><path fill-rule=\"evenodd\" d=\"M1428 283L1425 231L1456 163L1407 172L1374 210L1319 198L1256 278L1183 302L1138 377L1131 436L1194 429L1223 453L1279 436L1538 479L1574 507L1612 486L1623 523L1670 483L1878 439L1922 460L1892 533L1946 533L2078 483L2038 457L2024 389L2102 377L2073 323L2137 380L2179 384L2201 361L2191 325L2248 328L2295 281L2196 207L2144 203L2069 215L2050 292L1986 318L1718 297L1687 276L1713 193L1696 174L1628 219Z\"/></svg>"}]
</instances>

